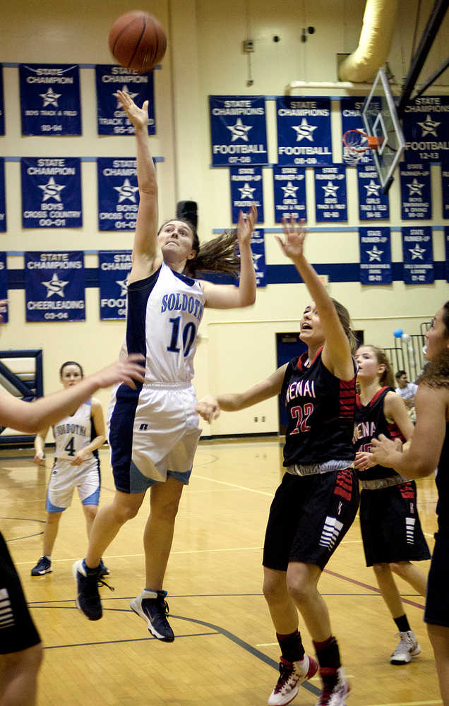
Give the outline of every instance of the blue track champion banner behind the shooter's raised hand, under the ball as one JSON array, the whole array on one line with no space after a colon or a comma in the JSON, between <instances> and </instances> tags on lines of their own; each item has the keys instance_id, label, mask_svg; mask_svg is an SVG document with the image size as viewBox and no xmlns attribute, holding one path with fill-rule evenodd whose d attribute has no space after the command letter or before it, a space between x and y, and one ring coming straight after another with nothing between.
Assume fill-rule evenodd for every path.
<instances>
[{"instance_id":1,"label":"blue track champion banner behind the shooter's raised hand, under the ball","mask_svg":"<svg viewBox=\"0 0 449 706\"><path fill-rule=\"evenodd\" d=\"M128 93L139 108L142 107L145 100L148 100L148 134L155 134L155 91L152 71L137 73L137 71L123 66L97 64L95 66L95 81L99 135L134 134L131 120L121 109L120 103L114 95L117 90Z\"/></svg>"}]
</instances>

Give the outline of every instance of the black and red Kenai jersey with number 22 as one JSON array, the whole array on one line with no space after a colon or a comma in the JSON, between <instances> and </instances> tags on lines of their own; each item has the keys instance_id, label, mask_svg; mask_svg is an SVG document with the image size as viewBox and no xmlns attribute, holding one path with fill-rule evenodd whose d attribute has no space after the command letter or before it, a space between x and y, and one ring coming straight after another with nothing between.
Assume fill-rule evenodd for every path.
<instances>
[{"instance_id":1,"label":"black and red Kenai jersey with number 22","mask_svg":"<svg viewBox=\"0 0 449 706\"><path fill-rule=\"evenodd\" d=\"M309 366L303 353L285 371L281 390L289 417L285 466L354 460L355 363L354 378L340 380L323 364L322 351Z\"/></svg>"}]
</instances>

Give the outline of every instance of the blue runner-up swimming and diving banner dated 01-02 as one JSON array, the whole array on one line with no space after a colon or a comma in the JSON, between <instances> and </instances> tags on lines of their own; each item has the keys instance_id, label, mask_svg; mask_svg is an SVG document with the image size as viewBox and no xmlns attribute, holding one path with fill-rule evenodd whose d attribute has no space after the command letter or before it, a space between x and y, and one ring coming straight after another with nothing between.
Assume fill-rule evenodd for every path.
<instances>
[{"instance_id":1,"label":"blue runner-up swimming and diving banner dated 01-02","mask_svg":"<svg viewBox=\"0 0 449 706\"><path fill-rule=\"evenodd\" d=\"M406 285L431 285L434 277L430 226L402 228L402 261Z\"/></svg>"}]
</instances>

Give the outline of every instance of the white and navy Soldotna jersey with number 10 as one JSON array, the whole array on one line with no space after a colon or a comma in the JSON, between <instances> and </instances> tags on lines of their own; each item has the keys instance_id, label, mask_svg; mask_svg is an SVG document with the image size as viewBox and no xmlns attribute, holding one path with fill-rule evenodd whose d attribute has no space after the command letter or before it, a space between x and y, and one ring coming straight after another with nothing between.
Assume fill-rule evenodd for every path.
<instances>
[{"instance_id":1,"label":"white and navy Soldotna jersey with number 10","mask_svg":"<svg viewBox=\"0 0 449 706\"><path fill-rule=\"evenodd\" d=\"M191 381L204 301L197 280L174 273L164 263L150 277L128 285L122 352L145 356L145 383Z\"/></svg>"}]
</instances>

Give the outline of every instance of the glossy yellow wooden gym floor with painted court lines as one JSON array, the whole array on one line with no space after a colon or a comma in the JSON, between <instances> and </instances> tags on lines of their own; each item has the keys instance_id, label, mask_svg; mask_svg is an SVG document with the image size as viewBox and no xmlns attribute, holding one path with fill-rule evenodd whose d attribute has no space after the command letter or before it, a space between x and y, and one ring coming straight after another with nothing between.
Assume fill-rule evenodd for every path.
<instances>
[{"instance_id":1,"label":"glossy yellow wooden gym floor with painted court lines","mask_svg":"<svg viewBox=\"0 0 449 706\"><path fill-rule=\"evenodd\" d=\"M40 706L261 706L277 681L279 649L261 592L262 545L273 493L282 474L282 439L201 442L176 522L165 588L176 640L158 642L129 608L143 588L142 534L149 501L109 546L104 560L114 592L102 588L104 616L77 611L71 567L84 556L78 496L61 518L53 573L31 578L42 554L47 467L32 451L0 454L0 527L23 580L45 654ZM100 452L102 503L113 495L109 452ZM429 546L436 529L433 477L419 481L419 511ZM428 570L429 562L421 568ZM321 578L345 671L348 706L441 704L423 623L424 599L398 580L421 654L392 666L395 624L364 566L359 520ZM300 618L301 628L301 618ZM308 633L304 645L311 650ZM295 706L313 705L318 678L299 689Z\"/></svg>"}]
</instances>

